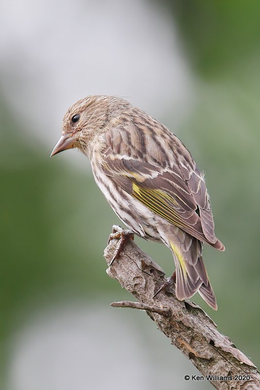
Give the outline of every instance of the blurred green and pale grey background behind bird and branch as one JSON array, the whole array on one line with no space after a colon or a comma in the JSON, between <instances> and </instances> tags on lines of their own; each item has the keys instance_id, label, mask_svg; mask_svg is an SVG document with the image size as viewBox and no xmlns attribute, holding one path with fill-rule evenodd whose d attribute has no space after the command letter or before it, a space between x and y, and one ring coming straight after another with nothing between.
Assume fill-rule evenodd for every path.
<instances>
[{"instance_id":1,"label":"blurred green and pale grey background behind bird and branch","mask_svg":"<svg viewBox=\"0 0 260 390\"><path fill-rule=\"evenodd\" d=\"M68 106L125 97L206 172L225 253L204 248L219 330L260 365L260 2L2 0L0 388L210 389L106 274L120 223L76 151ZM136 240L170 274L164 246Z\"/></svg>"}]
</instances>

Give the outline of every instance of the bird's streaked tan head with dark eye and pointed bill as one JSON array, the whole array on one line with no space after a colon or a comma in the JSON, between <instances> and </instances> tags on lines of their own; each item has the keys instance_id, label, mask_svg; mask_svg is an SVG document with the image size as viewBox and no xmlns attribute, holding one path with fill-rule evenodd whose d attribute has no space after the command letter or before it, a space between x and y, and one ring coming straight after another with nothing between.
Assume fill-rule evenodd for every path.
<instances>
[{"instance_id":1,"label":"bird's streaked tan head with dark eye and pointed bill","mask_svg":"<svg viewBox=\"0 0 260 390\"><path fill-rule=\"evenodd\" d=\"M93 95L74 103L63 118L62 135L51 157L63 150L78 148L89 155L93 142L119 117L129 103L112 96Z\"/></svg>"}]
</instances>

